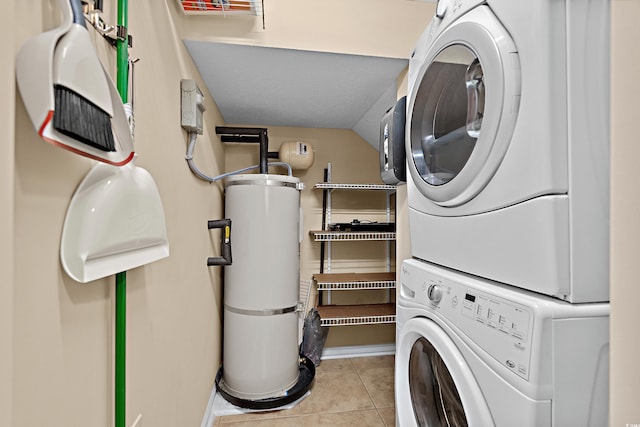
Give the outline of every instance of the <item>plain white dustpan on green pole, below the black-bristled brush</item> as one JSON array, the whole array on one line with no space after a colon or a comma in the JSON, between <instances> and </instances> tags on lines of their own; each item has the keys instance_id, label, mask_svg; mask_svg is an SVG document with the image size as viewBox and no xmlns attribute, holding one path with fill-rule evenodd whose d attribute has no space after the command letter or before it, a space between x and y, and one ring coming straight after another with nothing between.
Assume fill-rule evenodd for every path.
<instances>
[{"instance_id":1,"label":"plain white dustpan on green pole, below the black-bristled brush","mask_svg":"<svg viewBox=\"0 0 640 427\"><path fill-rule=\"evenodd\" d=\"M169 256L164 210L145 169L98 163L74 193L62 229L66 273L86 283Z\"/></svg>"}]
</instances>

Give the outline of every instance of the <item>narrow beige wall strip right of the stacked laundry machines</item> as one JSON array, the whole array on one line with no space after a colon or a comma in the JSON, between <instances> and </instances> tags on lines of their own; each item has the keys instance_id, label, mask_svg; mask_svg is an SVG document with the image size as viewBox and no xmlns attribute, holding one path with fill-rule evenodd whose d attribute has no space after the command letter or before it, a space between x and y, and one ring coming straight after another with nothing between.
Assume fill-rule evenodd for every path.
<instances>
[{"instance_id":1,"label":"narrow beige wall strip right of the stacked laundry machines","mask_svg":"<svg viewBox=\"0 0 640 427\"><path fill-rule=\"evenodd\" d=\"M614 0L611 63L611 419L640 424L640 2Z\"/></svg>"}]
</instances>

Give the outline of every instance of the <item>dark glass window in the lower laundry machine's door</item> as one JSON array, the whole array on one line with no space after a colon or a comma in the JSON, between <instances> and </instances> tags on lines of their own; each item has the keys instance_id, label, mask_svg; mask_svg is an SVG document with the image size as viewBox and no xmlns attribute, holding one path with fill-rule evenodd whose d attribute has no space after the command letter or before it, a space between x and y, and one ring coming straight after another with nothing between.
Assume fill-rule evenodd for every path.
<instances>
[{"instance_id":1,"label":"dark glass window in the lower laundry machine's door","mask_svg":"<svg viewBox=\"0 0 640 427\"><path fill-rule=\"evenodd\" d=\"M409 390L416 422L430 427L466 427L467 417L444 361L425 338L409 356Z\"/></svg>"}]
</instances>

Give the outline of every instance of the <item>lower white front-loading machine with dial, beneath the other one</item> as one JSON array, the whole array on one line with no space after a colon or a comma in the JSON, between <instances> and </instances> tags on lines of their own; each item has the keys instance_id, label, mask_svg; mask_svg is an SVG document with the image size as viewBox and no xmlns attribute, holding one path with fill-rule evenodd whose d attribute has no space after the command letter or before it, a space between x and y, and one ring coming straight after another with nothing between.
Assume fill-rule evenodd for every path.
<instances>
[{"instance_id":1,"label":"lower white front-loading machine with dial, beneath the other one","mask_svg":"<svg viewBox=\"0 0 640 427\"><path fill-rule=\"evenodd\" d=\"M608 424L608 303L571 304L417 260L401 276L397 426Z\"/></svg>"}]
</instances>

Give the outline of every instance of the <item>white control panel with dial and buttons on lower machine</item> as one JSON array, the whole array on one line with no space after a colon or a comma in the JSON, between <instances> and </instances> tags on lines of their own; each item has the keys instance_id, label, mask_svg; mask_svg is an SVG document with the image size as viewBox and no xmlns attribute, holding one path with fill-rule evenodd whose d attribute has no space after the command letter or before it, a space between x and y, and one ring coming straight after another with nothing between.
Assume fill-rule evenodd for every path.
<instances>
[{"instance_id":1,"label":"white control panel with dial and buttons on lower machine","mask_svg":"<svg viewBox=\"0 0 640 427\"><path fill-rule=\"evenodd\" d=\"M534 311L508 298L513 291L462 275L452 280L407 262L401 286L401 298L420 303L434 320L454 326L466 341L529 380Z\"/></svg>"}]
</instances>

